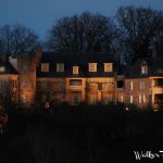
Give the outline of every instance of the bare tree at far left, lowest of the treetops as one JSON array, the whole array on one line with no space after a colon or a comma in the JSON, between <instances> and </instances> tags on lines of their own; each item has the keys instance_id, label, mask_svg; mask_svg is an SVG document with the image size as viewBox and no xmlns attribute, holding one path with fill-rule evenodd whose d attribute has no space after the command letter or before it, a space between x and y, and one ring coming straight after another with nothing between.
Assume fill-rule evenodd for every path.
<instances>
[{"instance_id":1,"label":"bare tree at far left, lowest of the treetops","mask_svg":"<svg viewBox=\"0 0 163 163\"><path fill-rule=\"evenodd\" d=\"M38 36L32 29L22 25L4 25L0 28L1 54L26 54L38 46Z\"/></svg>"}]
</instances>

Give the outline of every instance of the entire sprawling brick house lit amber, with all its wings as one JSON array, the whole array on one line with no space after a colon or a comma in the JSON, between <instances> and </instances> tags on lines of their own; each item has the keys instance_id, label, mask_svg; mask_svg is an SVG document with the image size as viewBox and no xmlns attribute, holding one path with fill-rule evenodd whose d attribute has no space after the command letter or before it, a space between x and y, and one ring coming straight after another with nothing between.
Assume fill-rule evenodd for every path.
<instances>
[{"instance_id":1,"label":"entire sprawling brick house lit amber, with all its wings","mask_svg":"<svg viewBox=\"0 0 163 163\"><path fill-rule=\"evenodd\" d=\"M114 53L58 53L38 50L0 64L0 86L8 79L14 102L108 104L158 108L163 100L163 59L140 59L123 72Z\"/></svg>"}]
</instances>

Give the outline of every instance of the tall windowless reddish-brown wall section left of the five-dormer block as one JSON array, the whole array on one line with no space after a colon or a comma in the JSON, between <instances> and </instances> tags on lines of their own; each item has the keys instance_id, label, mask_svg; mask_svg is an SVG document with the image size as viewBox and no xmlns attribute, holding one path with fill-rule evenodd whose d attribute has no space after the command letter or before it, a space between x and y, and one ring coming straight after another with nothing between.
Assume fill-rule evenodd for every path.
<instances>
[{"instance_id":1,"label":"tall windowless reddish-brown wall section left of the five-dormer block","mask_svg":"<svg viewBox=\"0 0 163 163\"><path fill-rule=\"evenodd\" d=\"M28 108L35 102L36 53L17 57L20 104Z\"/></svg>"}]
</instances>

